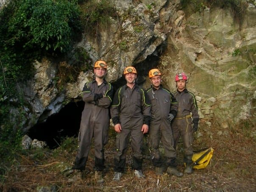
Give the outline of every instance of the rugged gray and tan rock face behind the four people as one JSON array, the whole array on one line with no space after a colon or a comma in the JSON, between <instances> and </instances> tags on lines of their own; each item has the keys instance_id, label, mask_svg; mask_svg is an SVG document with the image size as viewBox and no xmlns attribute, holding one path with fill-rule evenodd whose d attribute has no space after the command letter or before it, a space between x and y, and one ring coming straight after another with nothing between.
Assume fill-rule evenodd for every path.
<instances>
[{"instance_id":1,"label":"rugged gray and tan rock face behind the four people","mask_svg":"<svg viewBox=\"0 0 256 192\"><path fill-rule=\"evenodd\" d=\"M231 7L204 7L188 14L179 0L139 2L115 1L119 17L112 19L108 31L100 31L100 41L84 35L75 48L89 53L91 65L97 59L107 61L106 79L111 82L118 82L124 68L133 65L147 88L147 72L158 67L164 86L174 91L175 74L185 72L188 89L197 96L200 125L205 122L207 128L218 122L225 128L250 121L255 126L255 1L246 2L239 18ZM47 58L36 61L34 77L21 86L28 101L24 130L58 113L70 99L80 98L84 83L92 79L91 71L81 71L75 83L60 90L57 64Z\"/></svg>"}]
</instances>

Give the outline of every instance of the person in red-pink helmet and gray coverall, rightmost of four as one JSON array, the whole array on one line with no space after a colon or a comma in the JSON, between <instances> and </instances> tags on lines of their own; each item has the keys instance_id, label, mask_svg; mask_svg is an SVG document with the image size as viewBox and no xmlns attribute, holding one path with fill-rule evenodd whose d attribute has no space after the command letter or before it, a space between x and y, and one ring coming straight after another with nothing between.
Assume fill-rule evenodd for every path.
<instances>
[{"instance_id":1,"label":"person in red-pink helmet and gray coverall, rightmost of four","mask_svg":"<svg viewBox=\"0 0 256 192\"><path fill-rule=\"evenodd\" d=\"M198 130L199 115L195 95L186 89L187 81L188 78L184 72L175 75L177 90L173 92L173 95L178 101L178 113L172 121L172 130L175 149L179 138L182 138L184 147L183 161L186 164L184 173L190 174L192 173L193 132Z\"/></svg>"}]
</instances>

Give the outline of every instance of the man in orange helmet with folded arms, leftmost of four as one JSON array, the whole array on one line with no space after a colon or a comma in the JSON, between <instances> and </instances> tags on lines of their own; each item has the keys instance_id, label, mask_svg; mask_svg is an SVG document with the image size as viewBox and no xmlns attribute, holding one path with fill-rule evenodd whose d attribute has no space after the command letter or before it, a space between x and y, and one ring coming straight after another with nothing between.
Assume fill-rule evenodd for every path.
<instances>
[{"instance_id":1,"label":"man in orange helmet with folded arms, leftmost of four","mask_svg":"<svg viewBox=\"0 0 256 192\"><path fill-rule=\"evenodd\" d=\"M88 158L92 137L95 147L95 179L103 183L104 146L108 141L109 106L112 102L113 87L105 80L107 64L95 62L95 79L83 87L82 99L85 102L78 134L78 152L73 169L84 170Z\"/></svg>"}]
</instances>

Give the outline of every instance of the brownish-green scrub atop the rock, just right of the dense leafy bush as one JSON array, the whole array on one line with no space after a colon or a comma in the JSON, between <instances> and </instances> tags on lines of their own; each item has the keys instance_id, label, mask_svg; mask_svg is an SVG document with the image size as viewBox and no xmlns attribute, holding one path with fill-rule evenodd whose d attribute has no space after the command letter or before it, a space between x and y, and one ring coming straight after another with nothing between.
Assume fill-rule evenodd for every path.
<instances>
[{"instance_id":1,"label":"brownish-green scrub atop the rock, just right of the dense leafy bush","mask_svg":"<svg viewBox=\"0 0 256 192\"><path fill-rule=\"evenodd\" d=\"M114 5L110 0L88 0L81 5L81 11L84 31L96 37L100 28L108 31L111 17L117 16Z\"/></svg>"}]
</instances>

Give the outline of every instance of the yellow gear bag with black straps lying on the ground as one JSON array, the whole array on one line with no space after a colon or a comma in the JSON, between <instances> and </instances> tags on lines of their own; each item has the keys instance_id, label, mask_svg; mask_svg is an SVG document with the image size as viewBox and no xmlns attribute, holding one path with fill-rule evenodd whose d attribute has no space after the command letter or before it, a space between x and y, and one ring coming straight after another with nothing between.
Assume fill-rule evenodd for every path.
<instances>
[{"instance_id":1,"label":"yellow gear bag with black straps lying on the ground","mask_svg":"<svg viewBox=\"0 0 256 192\"><path fill-rule=\"evenodd\" d=\"M192 156L193 169L205 168L211 161L212 156L213 156L213 148L212 147L200 150L198 152L194 152L193 156Z\"/></svg>"}]
</instances>

